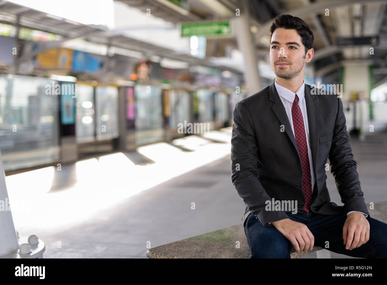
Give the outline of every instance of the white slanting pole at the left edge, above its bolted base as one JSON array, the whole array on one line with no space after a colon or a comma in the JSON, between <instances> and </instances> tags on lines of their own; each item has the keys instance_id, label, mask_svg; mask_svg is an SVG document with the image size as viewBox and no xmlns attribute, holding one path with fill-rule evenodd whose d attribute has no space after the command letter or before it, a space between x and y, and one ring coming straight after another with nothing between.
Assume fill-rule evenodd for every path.
<instances>
[{"instance_id":1,"label":"white slanting pole at the left edge, above its bolted base","mask_svg":"<svg viewBox=\"0 0 387 285\"><path fill-rule=\"evenodd\" d=\"M8 193L5 184L5 172L0 151L0 256L9 254L19 248L17 233L8 209Z\"/></svg>"}]
</instances>

